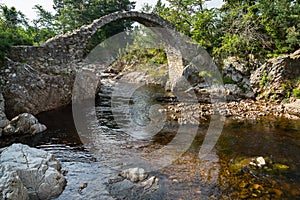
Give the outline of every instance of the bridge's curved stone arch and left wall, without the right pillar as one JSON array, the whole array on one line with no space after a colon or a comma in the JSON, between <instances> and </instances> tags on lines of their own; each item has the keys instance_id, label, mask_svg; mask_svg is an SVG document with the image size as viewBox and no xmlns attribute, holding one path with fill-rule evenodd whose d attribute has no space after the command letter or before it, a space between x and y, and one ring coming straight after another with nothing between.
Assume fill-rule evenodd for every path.
<instances>
[{"instance_id":1,"label":"bridge's curved stone arch and left wall, without the right pillar","mask_svg":"<svg viewBox=\"0 0 300 200\"><path fill-rule=\"evenodd\" d=\"M33 67L53 67L84 59L89 39L98 29L110 22L132 20L147 27L174 29L174 25L156 14L136 11L115 12L84 25L72 32L55 36L40 46L15 46L9 57L14 61L25 62Z\"/></svg>"}]
</instances>

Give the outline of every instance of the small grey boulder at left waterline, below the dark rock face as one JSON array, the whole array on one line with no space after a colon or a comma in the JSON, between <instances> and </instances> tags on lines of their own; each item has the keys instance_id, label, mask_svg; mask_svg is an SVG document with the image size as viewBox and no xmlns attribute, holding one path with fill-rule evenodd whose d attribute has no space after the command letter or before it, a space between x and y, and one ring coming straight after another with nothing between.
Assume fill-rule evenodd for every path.
<instances>
[{"instance_id":1,"label":"small grey boulder at left waterline, below the dark rock face","mask_svg":"<svg viewBox=\"0 0 300 200\"><path fill-rule=\"evenodd\" d=\"M4 135L36 134L43 132L47 127L40 124L38 120L29 113L23 113L13 118L3 129Z\"/></svg>"}]
</instances>

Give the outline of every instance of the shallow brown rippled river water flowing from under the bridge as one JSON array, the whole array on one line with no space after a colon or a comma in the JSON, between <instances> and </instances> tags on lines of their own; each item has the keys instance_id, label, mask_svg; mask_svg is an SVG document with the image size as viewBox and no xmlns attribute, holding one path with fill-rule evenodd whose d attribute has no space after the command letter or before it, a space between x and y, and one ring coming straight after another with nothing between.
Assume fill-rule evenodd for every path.
<instances>
[{"instance_id":1,"label":"shallow brown rippled river water flowing from under the bridge","mask_svg":"<svg viewBox=\"0 0 300 200\"><path fill-rule=\"evenodd\" d=\"M142 127L149 123L149 107L159 103L156 99L163 95L164 92L155 87L141 88L130 101L130 115L133 116L134 123ZM108 179L116 176L118 170L129 166L125 164L126 159L133 160L136 162L135 167L139 167L140 164L145 164L139 162L140 154L161 149L176 136L179 126L173 122L165 124L158 134L150 137L143 135L139 138L128 133L128 130L120 130L123 124L117 124L113 120L109 96L110 85L103 85L100 98L96 102L98 119L90 124L97 133L93 135L98 142L95 149L90 144L81 142L70 106L41 113L37 117L46 124L48 130L33 138L20 139L30 146L50 151L62 161L62 168L67 171L68 184L58 199L124 197L124 191L123 194L112 191L110 192L113 195L109 194ZM162 107L166 105L160 104ZM126 120L128 119L124 117L122 123L126 124ZM208 124L199 125L188 150L172 164L150 172L150 175L159 178L160 188L150 196L144 196L144 199L300 198L300 121L270 118L261 121L227 119L215 148L204 160L200 160L199 150L207 126ZM192 128L184 128L186 136L192 134ZM268 171L244 167L239 173L230 170L232 163L237 160L258 156L271 160L273 164L288 166L288 169ZM79 185L85 182L88 187L79 193ZM139 198L132 194L127 196L127 199Z\"/></svg>"}]
</instances>

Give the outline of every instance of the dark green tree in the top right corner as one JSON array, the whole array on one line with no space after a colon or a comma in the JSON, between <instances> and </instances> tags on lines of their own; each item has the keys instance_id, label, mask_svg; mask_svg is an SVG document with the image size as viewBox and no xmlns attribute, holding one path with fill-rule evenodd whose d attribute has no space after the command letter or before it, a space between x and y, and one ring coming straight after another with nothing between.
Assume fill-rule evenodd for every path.
<instances>
[{"instance_id":1,"label":"dark green tree in the top right corner","mask_svg":"<svg viewBox=\"0 0 300 200\"><path fill-rule=\"evenodd\" d=\"M282 54L300 46L300 3L291 0L258 0L260 24L270 36L274 51Z\"/></svg>"}]
</instances>

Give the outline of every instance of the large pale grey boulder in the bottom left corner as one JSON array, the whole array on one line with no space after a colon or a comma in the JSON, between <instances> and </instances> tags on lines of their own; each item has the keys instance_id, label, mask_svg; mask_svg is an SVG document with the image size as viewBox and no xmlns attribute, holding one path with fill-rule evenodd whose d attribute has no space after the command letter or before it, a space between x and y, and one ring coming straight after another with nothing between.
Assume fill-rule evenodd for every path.
<instances>
[{"instance_id":1,"label":"large pale grey boulder in the bottom left corner","mask_svg":"<svg viewBox=\"0 0 300 200\"><path fill-rule=\"evenodd\" d=\"M0 152L0 192L7 197L3 199L51 199L63 191L66 179L52 154L22 144Z\"/></svg>"}]
</instances>

